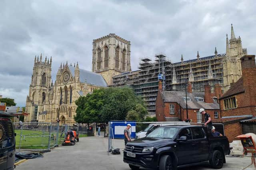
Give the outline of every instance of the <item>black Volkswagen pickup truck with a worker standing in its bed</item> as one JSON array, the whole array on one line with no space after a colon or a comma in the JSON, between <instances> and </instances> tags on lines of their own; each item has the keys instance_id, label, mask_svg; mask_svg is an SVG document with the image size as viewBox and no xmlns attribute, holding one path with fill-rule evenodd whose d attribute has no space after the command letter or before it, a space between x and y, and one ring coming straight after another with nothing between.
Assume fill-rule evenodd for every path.
<instances>
[{"instance_id":1,"label":"black Volkswagen pickup truck with a worker standing in its bed","mask_svg":"<svg viewBox=\"0 0 256 170\"><path fill-rule=\"evenodd\" d=\"M212 137L202 126L163 126L146 137L127 143L124 162L132 170L140 167L176 170L209 161L213 168L222 168L230 154L228 139Z\"/></svg>"}]
</instances>

